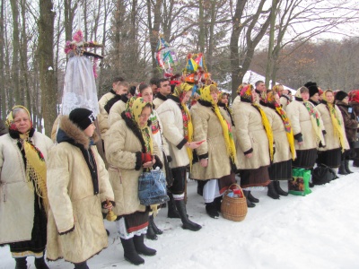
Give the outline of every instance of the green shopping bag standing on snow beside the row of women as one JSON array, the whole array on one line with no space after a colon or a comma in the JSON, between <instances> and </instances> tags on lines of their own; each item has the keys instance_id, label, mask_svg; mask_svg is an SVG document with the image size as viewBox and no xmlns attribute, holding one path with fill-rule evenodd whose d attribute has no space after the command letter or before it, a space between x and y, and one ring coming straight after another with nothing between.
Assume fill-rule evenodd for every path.
<instances>
[{"instance_id":1,"label":"green shopping bag standing on snow beside the row of women","mask_svg":"<svg viewBox=\"0 0 359 269\"><path fill-rule=\"evenodd\" d=\"M288 193L291 195L309 195L311 189L309 181L311 180L311 170L293 169L292 180L288 181Z\"/></svg>"}]
</instances>

